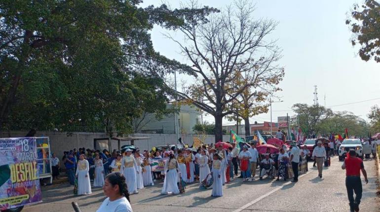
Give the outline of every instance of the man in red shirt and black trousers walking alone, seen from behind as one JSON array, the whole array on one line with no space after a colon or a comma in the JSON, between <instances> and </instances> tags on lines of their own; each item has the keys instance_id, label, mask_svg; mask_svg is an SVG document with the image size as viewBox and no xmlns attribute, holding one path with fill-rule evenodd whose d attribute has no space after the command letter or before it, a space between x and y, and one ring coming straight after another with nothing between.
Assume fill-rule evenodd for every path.
<instances>
[{"instance_id":1,"label":"man in red shirt and black trousers walking alone, seen from behind","mask_svg":"<svg viewBox=\"0 0 380 212\"><path fill-rule=\"evenodd\" d=\"M368 183L367 172L364 169L362 159L356 157L354 149L350 149L347 158L344 159L342 169L346 171L345 187L347 188L350 212L358 212L360 199L362 198L362 181L360 179L360 170L363 173L364 180ZM354 199L354 192L356 197Z\"/></svg>"}]
</instances>

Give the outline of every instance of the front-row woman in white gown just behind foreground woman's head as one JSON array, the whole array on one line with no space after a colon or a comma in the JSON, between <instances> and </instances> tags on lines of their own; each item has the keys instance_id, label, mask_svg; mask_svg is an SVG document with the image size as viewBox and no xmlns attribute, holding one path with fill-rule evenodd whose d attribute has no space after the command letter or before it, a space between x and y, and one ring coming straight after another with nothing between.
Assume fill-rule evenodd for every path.
<instances>
[{"instance_id":1,"label":"front-row woman in white gown just behind foreground woman's head","mask_svg":"<svg viewBox=\"0 0 380 212\"><path fill-rule=\"evenodd\" d=\"M125 150L125 156L123 157L121 164L121 172L126 178L125 182L127 183L129 194L138 194L136 181L136 173L138 172L137 164L132 155L131 149L128 148Z\"/></svg>"}]
</instances>

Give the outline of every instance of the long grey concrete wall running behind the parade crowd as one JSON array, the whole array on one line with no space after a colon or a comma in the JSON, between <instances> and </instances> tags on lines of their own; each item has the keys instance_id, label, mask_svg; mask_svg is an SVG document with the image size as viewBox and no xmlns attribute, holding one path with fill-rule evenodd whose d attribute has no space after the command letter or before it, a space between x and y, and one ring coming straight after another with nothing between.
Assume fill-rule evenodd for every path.
<instances>
[{"instance_id":1,"label":"long grey concrete wall running behind the parade crowd","mask_svg":"<svg viewBox=\"0 0 380 212\"><path fill-rule=\"evenodd\" d=\"M25 137L28 131L10 131L1 134L1 138L18 138ZM64 151L69 151L73 148L89 148L94 149L94 139L107 138L105 133L85 133L85 132L55 132L55 131L38 131L36 137L49 137L50 139L50 150L55 153L57 157L61 160ZM146 140L136 140L134 145L142 150L152 149L153 146L166 145L166 144L176 144L178 142L177 135L174 134L132 134L129 137L148 137ZM204 139L206 144L215 143L215 137L212 135L181 135L182 141L185 144L192 145L193 137L198 137ZM223 136L223 141L229 141L229 136ZM120 142L120 146L130 144L130 141ZM98 141L96 143L96 149L108 149L108 140ZM117 149L117 141L111 142L111 149ZM61 164L63 165L63 164Z\"/></svg>"}]
</instances>

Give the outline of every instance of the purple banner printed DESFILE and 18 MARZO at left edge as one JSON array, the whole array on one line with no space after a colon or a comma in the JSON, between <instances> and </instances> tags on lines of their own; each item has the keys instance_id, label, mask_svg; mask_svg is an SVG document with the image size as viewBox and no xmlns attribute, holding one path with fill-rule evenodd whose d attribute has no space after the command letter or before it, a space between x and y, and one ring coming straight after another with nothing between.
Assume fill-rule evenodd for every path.
<instances>
[{"instance_id":1,"label":"purple banner printed DESFILE and 18 MARZO at left edge","mask_svg":"<svg viewBox=\"0 0 380 212\"><path fill-rule=\"evenodd\" d=\"M0 139L0 210L41 201L36 138Z\"/></svg>"}]
</instances>

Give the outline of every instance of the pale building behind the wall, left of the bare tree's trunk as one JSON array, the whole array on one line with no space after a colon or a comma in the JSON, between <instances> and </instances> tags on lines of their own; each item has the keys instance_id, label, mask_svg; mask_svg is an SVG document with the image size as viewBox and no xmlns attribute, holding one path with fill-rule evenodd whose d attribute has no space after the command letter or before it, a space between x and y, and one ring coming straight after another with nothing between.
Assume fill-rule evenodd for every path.
<instances>
[{"instance_id":1,"label":"pale building behind the wall, left of the bare tree's trunk","mask_svg":"<svg viewBox=\"0 0 380 212\"><path fill-rule=\"evenodd\" d=\"M166 105L168 108L172 104ZM178 114L180 134L192 133L195 124L200 123L200 111L192 105L182 105ZM145 114L145 117L134 120L135 133L163 133L175 134L175 115L169 114L157 120L152 113Z\"/></svg>"}]
</instances>

